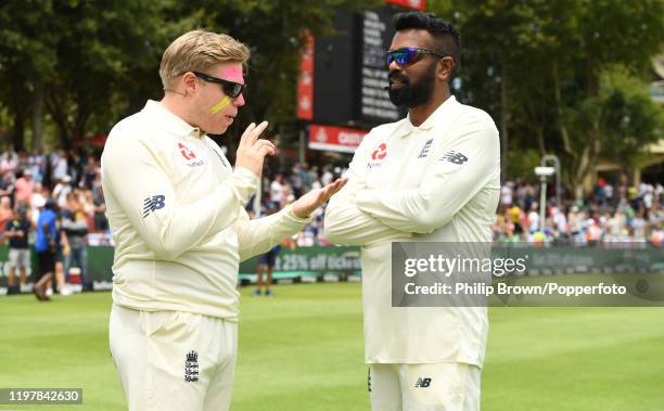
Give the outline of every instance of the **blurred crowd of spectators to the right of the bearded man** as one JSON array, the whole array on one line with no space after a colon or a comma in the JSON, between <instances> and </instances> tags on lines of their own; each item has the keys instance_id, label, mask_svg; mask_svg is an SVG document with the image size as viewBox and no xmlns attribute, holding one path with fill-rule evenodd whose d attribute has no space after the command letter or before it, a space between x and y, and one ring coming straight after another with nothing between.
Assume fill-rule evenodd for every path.
<instances>
[{"instance_id":1,"label":"blurred crowd of spectators to the right of the bearded man","mask_svg":"<svg viewBox=\"0 0 664 411\"><path fill-rule=\"evenodd\" d=\"M501 188L500 207L493 226L494 240L531 243L664 243L664 188L661 182L613 184L600 178L591 195L561 205L546 196L540 227L540 185L508 181ZM548 190L547 190L548 191Z\"/></svg>"}]
</instances>

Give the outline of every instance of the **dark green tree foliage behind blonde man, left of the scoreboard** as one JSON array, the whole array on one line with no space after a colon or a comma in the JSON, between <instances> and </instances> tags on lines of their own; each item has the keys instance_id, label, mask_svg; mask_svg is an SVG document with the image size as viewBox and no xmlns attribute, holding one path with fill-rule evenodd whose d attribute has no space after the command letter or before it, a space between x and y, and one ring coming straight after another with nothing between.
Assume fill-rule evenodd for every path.
<instances>
[{"instance_id":1,"label":"dark green tree foliage behind blonde man, left of the scoreboard","mask_svg":"<svg viewBox=\"0 0 664 411\"><path fill-rule=\"evenodd\" d=\"M267 117L292 121L303 29L330 33L340 8L379 3L8 0L0 4L0 106L13 117L15 142L23 143L27 115L39 102L46 112L34 117L54 124L59 145L107 132L145 99L161 98L163 51L179 35L202 27L227 33L252 50L248 104L239 126Z\"/></svg>"}]
</instances>

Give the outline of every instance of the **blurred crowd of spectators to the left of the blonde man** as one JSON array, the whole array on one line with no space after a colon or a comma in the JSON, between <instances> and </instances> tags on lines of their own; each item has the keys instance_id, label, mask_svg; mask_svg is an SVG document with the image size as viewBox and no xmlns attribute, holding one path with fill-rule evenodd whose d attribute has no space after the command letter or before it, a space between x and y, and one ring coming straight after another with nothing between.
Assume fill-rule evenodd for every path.
<instances>
[{"instance_id":1,"label":"blurred crowd of spectators to the left of the blonde man","mask_svg":"<svg viewBox=\"0 0 664 411\"><path fill-rule=\"evenodd\" d=\"M108 239L99 155L82 150L4 151L0 155L0 239L10 251L16 244L13 231L22 221L28 222L29 228L25 240L35 243L39 215L50 207L58 215L56 287L66 292L62 288L73 267L80 272L84 287L88 286L88 243ZM14 286L14 271L10 269L10 286ZM21 272L20 277L23 285L25 274Z\"/></svg>"}]
</instances>

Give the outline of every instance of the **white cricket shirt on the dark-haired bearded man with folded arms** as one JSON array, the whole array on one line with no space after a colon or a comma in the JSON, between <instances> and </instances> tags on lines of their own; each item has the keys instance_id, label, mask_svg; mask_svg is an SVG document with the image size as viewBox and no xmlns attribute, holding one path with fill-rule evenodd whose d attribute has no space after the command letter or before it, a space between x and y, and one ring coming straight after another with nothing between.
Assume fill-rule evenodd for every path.
<instances>
[{"instance_id":1,"label":"white cricket shirt on the dark-haired bearded man with folded arms","mask_svg":"<svg viewBox=\"0 0 664 411\"><path fill-rule=\"evenodd\" d=\"M482 367L485 307L392 307L391 242L490 242L500 192L498 130L450 97L422 125L376 127L325 210L325 235L361 245L368 363Z\"/></svg>"}]
</instances>

